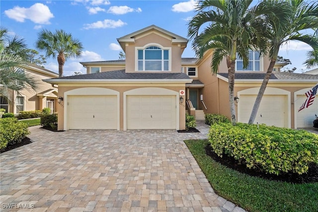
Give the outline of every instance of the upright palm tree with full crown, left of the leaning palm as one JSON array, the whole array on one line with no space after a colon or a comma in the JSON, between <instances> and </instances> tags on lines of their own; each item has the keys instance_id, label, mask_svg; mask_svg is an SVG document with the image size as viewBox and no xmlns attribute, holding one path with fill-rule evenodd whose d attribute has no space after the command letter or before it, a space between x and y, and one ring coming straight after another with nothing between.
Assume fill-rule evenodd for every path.
<instances>
[{"instance_id":1,"label":"upright palm tree with full crown, left of the leaning palm","mask_svg":"<svg viewBox=\"0 0 318 212\"><path fill-rule=\"evenodd\" d=\"M255 22L264 8L250 10L252 0L200 0L197 14L189 21L188 37L199 58L213 49L211 72L216 74L221 61L226 58L229 78L229 98L232 123L235 125L234 103L235 64L237 54L248 65L248 48L255 47L263 55L266 53L262 39L262 25ZM212 8L212 9L210 9ZM200 28L206 25L199 33Z\"/></svg>"}]
</instances>

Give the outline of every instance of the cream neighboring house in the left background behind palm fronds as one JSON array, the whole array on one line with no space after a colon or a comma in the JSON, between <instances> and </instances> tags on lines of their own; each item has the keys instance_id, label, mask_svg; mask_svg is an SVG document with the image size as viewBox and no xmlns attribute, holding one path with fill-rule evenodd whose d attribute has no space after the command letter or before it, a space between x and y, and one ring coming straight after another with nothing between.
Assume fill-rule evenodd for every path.
<instances>
[{"instance_id":1,"label":"cream neighboring house in the left background behind palm fronds","mask_svg":"<svg viewBox=\"0 0 318 212\"><path fill-rule=\"evenodd\" d=\"M19 96L16 92L11 91L11 103L1 96L0 108L4 108L6 112L14 114L20 111L42 110L45 107L50 108L51 113L56 112L58 89L52 87L51 84L43 82L42 79L58 77L59 74L33 64L25 66L21 70L28 72L30 76L37 80L38 89L36 91L21 90L21 95Z\"/></svg>"}]
</instances>

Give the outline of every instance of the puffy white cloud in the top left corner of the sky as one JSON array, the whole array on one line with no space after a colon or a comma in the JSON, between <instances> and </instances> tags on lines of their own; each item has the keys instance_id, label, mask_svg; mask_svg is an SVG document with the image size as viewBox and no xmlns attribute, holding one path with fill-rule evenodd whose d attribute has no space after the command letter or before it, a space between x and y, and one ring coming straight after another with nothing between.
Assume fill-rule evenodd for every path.
<instances>
[{"instance_id":1,"label":"puffy white cloud in the top left corner of the sky","mask_svg":"<svg viewBox=\"0 0 318 212\"><path fill-rule=\"evenodd\" d=\"M18 22L30 19L38 24L50 24L50 18L54 17L50 8L43 3L35 3L29 8L15 6L13 9L5 10L4 14Z\"/></svg>"}]
</instances>

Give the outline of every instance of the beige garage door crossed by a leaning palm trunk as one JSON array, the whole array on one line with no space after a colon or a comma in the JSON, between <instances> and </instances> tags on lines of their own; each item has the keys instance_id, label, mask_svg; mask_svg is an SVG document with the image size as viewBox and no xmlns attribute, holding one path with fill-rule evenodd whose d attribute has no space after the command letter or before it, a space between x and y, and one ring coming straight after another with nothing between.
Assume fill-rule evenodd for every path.
<instances>
[{"instance_id":1,"label":"beige garage door crossed by a leaning palm trunk","mask_svg":"<svg viewBox=\"0 0 318 212\"><path fill-rule=\"evenodd\" d=\"M238 121L248 123L256 95L240 95ZM264 95L259 105L254 124L288 127L286 122L286 96Z\"/></svg>"}]
</instances>

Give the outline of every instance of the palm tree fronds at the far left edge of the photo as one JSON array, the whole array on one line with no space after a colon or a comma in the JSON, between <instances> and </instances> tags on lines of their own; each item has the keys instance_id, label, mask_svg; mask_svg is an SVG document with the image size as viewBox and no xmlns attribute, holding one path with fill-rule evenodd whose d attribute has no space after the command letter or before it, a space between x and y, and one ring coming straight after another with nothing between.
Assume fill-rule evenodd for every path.
<instances>
[{"instance_id":1,"label":"palm tree fronds at the far left edge of the photo","mask_svg":"<svg viewBox=\"0 0 318 212\"><path fill-rule=\"evenodd\" d=\"M37 81L22 71L28 64L25 41L15 35L11 38L4 27L0 27L0 95L11 102L10 90L20 95L22 89L36 90Z\"/></svg>"}]
</instances>

